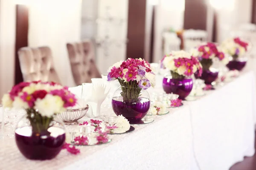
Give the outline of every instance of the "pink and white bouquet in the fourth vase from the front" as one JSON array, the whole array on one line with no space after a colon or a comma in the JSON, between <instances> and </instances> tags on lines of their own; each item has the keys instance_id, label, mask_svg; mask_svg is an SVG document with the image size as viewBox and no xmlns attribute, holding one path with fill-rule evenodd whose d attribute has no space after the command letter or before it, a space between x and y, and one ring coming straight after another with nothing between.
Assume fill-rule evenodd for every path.
<instances>
[{"instance_id":1,"label":"pink and white bouquet in the fourth vase from the front","mask_svg":"<svg viewBox=\"0 0 256 170\"><path fill-rule=\"evenodd\" d=\"M192 48L191 55L198 57L204 70L209 70L213 64L213 59L220 60L224 65L228 63L228 57L221 51L221 48L213 42L207 42L196 48Z\"/></svg>"}]
</instances>

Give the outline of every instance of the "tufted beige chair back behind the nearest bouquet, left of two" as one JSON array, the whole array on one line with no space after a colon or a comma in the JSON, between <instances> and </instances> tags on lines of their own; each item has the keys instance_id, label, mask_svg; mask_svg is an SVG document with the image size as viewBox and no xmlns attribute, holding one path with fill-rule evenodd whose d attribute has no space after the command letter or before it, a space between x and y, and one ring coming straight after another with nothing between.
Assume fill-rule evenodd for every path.
<instances>
[{"instance_id":1,"label":"tufted beige chair back behind the nearest bouquet, left of two","mask_svg":"<svg viewBox=\"0 0 256 170\"><path fill-rule=\"evenodd\" d=\"M54 69L49 47L23 47L19 49L18 56L24 81L41 80L61 83Z\"/></svg>"}]
</instances>

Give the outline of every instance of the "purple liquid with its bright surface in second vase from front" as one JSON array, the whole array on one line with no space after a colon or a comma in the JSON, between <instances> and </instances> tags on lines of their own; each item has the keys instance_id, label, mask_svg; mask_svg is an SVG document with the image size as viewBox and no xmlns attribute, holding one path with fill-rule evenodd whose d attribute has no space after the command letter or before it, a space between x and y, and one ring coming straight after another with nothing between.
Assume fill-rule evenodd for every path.
<instances>
[{"instance_id":1,"label":"purple liquid with its bright surface in second vase from front","mask_svg":"<svg viewBox=\"0 0 256 170\"><path fill-rule=\"evenodd\" d=\"M139 97L138 102L124 102L122 97L113 97L112 108L117 116L122 115L131 124L137 124L146 116L150 107L150 100Z\"/></svg>"}]
</instances>

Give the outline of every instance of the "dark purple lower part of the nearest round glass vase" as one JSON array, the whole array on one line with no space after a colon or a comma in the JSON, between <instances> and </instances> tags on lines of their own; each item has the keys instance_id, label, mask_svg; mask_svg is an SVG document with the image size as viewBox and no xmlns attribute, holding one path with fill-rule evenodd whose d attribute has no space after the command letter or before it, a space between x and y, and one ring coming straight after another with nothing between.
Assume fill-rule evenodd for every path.
<instances>
[{"instance_id":1,"label":"dark purple lower part of the nearest round glass vase","mask_svg":"<svg viewBox=\"0 0 256 170\"><path fill-rule=\"evenodd\" d=\"M53 159L61 151L65 142L65 133L57 137L52 136L22 136L15 133L15 140L20 152L27 159Z\"/></svg>"}]
</instances>

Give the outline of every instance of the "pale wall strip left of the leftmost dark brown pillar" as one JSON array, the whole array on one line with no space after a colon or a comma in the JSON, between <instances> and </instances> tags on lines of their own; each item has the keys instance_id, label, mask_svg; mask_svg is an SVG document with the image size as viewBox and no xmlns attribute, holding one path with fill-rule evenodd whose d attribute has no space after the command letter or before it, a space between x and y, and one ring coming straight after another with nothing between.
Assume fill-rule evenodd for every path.
<instances>
[{"instance_id":1,"label":"pale wall strip left of the leftmost dark brown pillar","mask_svg":"<svg viewBox=\"0 0 256 170\"><path fill-rule=\"evenodd\" d=\"M0 98L14 84L15 0L0 0Z\"/></svg>"}]
</instances>

